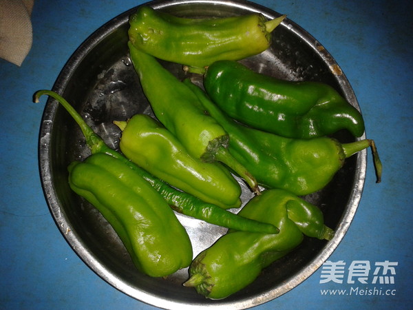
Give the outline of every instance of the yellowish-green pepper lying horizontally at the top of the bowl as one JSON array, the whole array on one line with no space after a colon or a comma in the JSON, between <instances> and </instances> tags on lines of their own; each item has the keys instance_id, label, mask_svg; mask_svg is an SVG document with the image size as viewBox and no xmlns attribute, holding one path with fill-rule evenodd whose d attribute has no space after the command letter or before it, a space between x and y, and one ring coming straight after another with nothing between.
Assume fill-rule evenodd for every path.
<instances>
[{"instance_id":1,"label":"yellowish-green pepper lying horizontally at the top of the bowl","mask_svg":"<svg viewBox=\"0 0 413 310\"><path fill-rule=\"evenodd\" d=\"M129 40L158 59L202 68L220 59L239 60L264 52L285 15L262 14L188 19L141 6L129 17Z\"/></svg>"}]
</instances>

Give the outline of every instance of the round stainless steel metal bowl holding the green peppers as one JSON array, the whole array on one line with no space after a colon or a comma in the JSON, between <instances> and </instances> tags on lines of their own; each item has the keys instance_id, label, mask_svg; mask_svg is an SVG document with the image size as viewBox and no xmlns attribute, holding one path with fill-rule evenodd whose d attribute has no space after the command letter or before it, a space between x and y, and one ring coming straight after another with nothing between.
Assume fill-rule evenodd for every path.
<instances>
[{"instance_id":1,"label":"round stainless steel metal bowl holding the green peppers","mask_svg":"<svg viewBox=\"0 0 413 310\"><path fill-rule=\"evenodd\" d=\"M182 17L223 17L261 12L268 19L280 14L245 1L153 1L149 6ZM120 132L112 124L136 113L151 114L127 50L128 17L136 8L109 21L92 34L71 56L53 90L62 94L87 123L118 149ZM359 108L352 88L339 65L305 30L285 19L273 34L271 48L245 60L248 65L282 79L321 81L335 87ZM164 63L184 77L180 65ZM354 141L346 132L335 135L341 142ZM364 138L364 137L362 137ZM67 184L67 165L83 160L89 149L78 126L63 107L48 99L39 138L41 181L56 225L76 254L116 289L142 302L162 308L216 307L245 309L273 300L306 280L332 254L352 221L361 198L366 151L349 158L332 182L320 192L306 196L323 211L326 225L336 230L330 242L305 238L288 256L264 269L251 285L224 300L208 300L195 289L182 286L187 269L167 279L138 272L112 227L100 213ZM244 189L244 202L251 198ZM194 257L209 247L226 229L177 215L193 242Z\"/></svg>"}]
</instances>

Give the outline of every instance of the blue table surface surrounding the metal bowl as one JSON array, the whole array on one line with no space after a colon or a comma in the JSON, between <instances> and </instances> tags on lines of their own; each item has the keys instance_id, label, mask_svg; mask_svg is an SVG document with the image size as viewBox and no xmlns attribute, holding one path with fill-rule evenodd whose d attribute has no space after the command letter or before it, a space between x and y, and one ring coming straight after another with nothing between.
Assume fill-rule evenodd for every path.
<instances>
[{"instance_id":1,"label":"blue table surface surrounding the metal bowl","mask_svg":"<svg viewBox=\"0 0 413 310\"><path fill-rule=\"evenodd\" d=\"M369 152L359 209L329 258L346 264L343 282L320 283L320 268L295 289L256 309L411 309L411 2L256 2L287 14L334 56L354 89L367 136L376 141L384 165L383 181L375 184ZM37 143L44 101L32 103L32 94L52 88L67 59L94 30L141 3L36 0L28 57L20 68L0 60L1 309L156 309L96 276L57 229L38 170ZM357 278L350 283L350 266L359 261L370 263L370 279L376 266L388 261L387 274L380 272L394 283L361 284ZM342 293L344 290L346 293Z\"/></svg>"}]
</instances>

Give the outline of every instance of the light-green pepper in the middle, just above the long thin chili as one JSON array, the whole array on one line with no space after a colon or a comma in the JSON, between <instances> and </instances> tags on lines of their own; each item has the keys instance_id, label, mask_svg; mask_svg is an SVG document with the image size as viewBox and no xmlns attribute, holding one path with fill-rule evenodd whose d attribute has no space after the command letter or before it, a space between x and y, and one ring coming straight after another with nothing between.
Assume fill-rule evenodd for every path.
<instances>
[{"instance_id":1,"label":"light-green pepper in the middle, just above the long thin chili","mask_svg":"<svg viewBox=\"0 0 413 310\"><path fill-rule=\"evenodd\" d=\"M241 206L241 187L219 163L190 156L178 139L151 116L136 114L120 127L120 151L173 187L223 209Z\"/></svg>"}]
</instances>

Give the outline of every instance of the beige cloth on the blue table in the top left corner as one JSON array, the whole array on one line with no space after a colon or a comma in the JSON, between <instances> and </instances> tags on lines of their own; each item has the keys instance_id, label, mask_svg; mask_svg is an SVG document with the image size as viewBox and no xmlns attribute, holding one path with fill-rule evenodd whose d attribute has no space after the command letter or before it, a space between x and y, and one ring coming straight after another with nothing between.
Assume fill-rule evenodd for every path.
<instances>
[{"instance_id":1,"label":"beige cloth on the blue table in the top left corner","mask_svg":"<svg viewBox=\"0 0 413 310\"><path fill-rule=\"evenodd\" d=\"M0 58L21 65L32 48L34 0L0 0Z\"/></svg>"}]
</instances>

